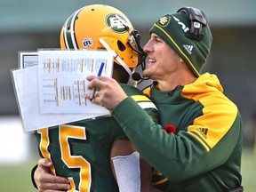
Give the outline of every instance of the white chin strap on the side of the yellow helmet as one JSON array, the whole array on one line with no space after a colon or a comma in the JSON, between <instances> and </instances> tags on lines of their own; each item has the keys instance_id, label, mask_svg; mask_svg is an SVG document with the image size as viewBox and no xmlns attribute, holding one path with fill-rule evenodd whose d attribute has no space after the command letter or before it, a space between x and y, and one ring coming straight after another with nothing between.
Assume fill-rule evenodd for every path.
<instances>
[{"instance_id":1,"label":"white chin strap on the side of the yellow helmet","mask_svg":"<svg viewBox=\"0 0 256 192\"><path fill-rule=\"evenodd\" d=\"M136 82L132 79L132 70L125 64L124 60L122 60L118 56L118 54L108 46L107 42L104 41L104 39L100 38L99 41L100 41L100 44L102 44L107 49L108 52L113 52L114 53L114 58L123 66L123 68L129 74L130 77L129 77L129 80L128 80L127 84L132 84L132 85L135 86Z\"/></svg>"}]
</instances>

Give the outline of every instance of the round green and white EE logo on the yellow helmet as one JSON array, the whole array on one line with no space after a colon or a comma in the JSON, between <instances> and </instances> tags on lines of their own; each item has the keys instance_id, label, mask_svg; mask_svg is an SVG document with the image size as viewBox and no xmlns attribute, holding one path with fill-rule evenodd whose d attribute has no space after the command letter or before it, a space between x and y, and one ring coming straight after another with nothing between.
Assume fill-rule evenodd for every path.
<instances>
[{"instance_id":1,"label":"round green and white EE logo on the yellow helmet","mask_svg":"<svg viewBox=\"0 0 256 192\"><path fill-rule=\"evenodd\" d=\"M118 16L124 20L123 17L121 17L120 15L118 15ZM125 28L124 24L121 22L121 20L118 20L116 18L116 14L113 14L113 13L108 14L105 22L106 22L107 27L116 33L126 32L126 28Z\"/></svg>"}]
</instances>

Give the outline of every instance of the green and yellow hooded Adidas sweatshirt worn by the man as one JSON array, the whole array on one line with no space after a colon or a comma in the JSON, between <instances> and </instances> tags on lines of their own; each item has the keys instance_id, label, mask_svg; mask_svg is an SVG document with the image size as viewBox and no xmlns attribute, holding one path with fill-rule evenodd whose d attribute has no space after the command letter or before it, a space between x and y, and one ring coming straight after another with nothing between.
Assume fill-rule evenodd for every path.
<instances>
[{"instance_id":1,"label":"green and yellow hooded Adidas sweatshirt worn by the man","mask_svg":"<svg viewBox=\"0 0 256 192\"><path fill-rule=\"evenodd\" d=\"M171 92L152 84L145 92L158 108L159 124L131 97L112 115L140 155L168 179L154 180L156 187L218 192L241 185L242 119L217 76L205 73Z\"/></svg>"}]
</instances>

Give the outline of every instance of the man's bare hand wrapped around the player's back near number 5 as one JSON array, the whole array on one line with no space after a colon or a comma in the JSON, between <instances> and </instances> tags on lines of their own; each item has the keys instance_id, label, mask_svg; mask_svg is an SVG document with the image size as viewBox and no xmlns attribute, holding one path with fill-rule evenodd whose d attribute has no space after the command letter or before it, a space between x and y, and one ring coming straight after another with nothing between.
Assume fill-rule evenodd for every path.
<instances>
[{"instance_id":1,"label":"man's bare hand wrapped around the player's back near number 5","mask_svg":"<svg viewBox=\"0 0 256 192\"><path fill-rule=\"evenodd\" d=\"M57 192L67 191L70 189L69 180L59 176L52 175L50 168L53 166L49 159L40 159L34 174L34 179L38 191L40 192Z\"/></svg>"}]
</instances>

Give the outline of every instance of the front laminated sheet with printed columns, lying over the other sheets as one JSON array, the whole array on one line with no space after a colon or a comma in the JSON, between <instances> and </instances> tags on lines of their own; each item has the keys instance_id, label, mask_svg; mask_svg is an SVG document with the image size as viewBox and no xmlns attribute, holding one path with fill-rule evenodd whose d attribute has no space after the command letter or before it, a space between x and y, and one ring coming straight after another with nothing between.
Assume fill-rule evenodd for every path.
<instances>
[{"instance_id":1,"label":"front laminated sheet with printed columns, lying over the other sheets","mask_svg":"<svg viewBox=\"0 0 256 192\"><path fill-rule=\"evenodd\" d=\"M99 113L99 106L85 99L86 76L112 76L109 52L39 52L38 85L42 113ZM91 91L90 91L91 92Z\"/></svg>"}]
</instances>

